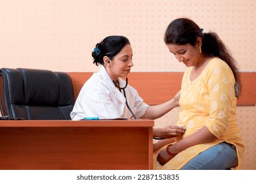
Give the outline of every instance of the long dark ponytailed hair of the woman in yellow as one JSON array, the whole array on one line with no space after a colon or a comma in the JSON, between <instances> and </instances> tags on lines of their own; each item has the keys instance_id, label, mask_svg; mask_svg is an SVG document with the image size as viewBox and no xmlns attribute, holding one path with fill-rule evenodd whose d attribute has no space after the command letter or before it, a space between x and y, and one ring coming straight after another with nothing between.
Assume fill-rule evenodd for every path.
<instances>
[{"instance_id":1,"label":"long dark ponytailed hair of the woman in yellow","mask_svg":"<svg viewBox=\"0 0 256 183\"><path fill-rule=\"evenodd\" d=\"M165 44L191 44L195 46L198 37L202 38L202 54L204 56L220 58L230 67L236 80L234 87L236 97L238 97L242 91L240 72L236 66L236 60L232 57L232 54L228 48L226 48L217 33L212 31L203 33L203 29L200 29L192 20L188 18L177 18L168 25L165 31L164 41Z\"/></svg>"}]
</instances>

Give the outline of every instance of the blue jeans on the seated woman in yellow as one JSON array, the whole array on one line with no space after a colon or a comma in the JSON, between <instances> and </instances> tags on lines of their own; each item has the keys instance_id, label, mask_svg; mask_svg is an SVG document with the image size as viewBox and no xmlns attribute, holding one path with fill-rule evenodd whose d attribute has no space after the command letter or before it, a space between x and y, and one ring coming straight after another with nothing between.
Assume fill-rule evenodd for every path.
<instances>
[{"instance_id":1,"label":"blue jeans on the seated woman in yellow","mask_svg":"<svg viewBox=\"0 0 256 183\"><path fill-rule=\"evenodd\" d=\"M201 152L184 165L181 170L224 170L238 165L236 147L221 142Z\"/></svg>"}]
</instances>

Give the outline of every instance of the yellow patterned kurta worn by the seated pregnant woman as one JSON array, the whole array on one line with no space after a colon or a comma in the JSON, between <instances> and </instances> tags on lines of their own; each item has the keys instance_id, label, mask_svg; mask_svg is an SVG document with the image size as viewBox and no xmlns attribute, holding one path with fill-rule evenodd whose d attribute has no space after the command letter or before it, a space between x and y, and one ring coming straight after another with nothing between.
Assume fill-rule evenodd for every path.
<instances>
[{"instance_id":1,"label":"yellow patterned kurta worn by the seated pregnant woman","mask_svg":"<svg viewBox=\"0 0 256 183\"><path fill-rule=\"evenodd\" d=\"M181 112L177 122L177 125L186 126L186 132L176 140L188 137L205 125L217 140L191 146L162 166L156 157L160 150L166 148L164 146L154 153L154 169L181 169L200 152L223 141L236 146L238 166L234 169L241 169L244 143L236 122L235 80L230 67L223 60L213 58L193 81L190 80L191 70L192 67L188 68L182 78Z\"/></svg>"}]
</instances>

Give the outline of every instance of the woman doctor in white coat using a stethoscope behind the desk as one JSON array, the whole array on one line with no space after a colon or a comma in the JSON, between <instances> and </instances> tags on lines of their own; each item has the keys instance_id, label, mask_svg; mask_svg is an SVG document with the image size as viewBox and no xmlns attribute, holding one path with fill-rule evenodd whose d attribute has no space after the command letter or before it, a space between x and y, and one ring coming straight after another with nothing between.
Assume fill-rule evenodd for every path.
<instances>
[{"instance_id":1,"label":"woman doctor in white coat using a stethoscope behind the desk","mask_svg":"<svg viewBox=\"0 0 256 183\"><path fill-rule=\"evenodd\" d=\"M129 86L127 78L133 67L133 50L126 37L109 36L96 44L92 52L93 63L102 67L94 73L79 92L72 120L86 117L98 118L160 118L174 107L179 106L179 92L173 99L161 105L149 106L144 103L137 90ZM176 137L184 128L169 125L154 129L154 137Z\"/></svg>"}]
</instances>

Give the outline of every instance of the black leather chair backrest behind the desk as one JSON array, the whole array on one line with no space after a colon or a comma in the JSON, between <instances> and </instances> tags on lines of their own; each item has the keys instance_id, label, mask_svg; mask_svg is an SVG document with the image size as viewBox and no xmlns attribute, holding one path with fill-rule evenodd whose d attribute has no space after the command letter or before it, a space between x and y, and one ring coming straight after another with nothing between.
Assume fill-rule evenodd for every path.
<instances>
[{"instance_id":1,"label":"black leather chair backrest behind the desk","mask_svg":"<svg viewBox=\"0 0 256 183\"><path fill-rule=\"evenodd\" d=\"M73 84L64 72L0 69L1 114L24 120L70 120Z\"/></svg>"}]
</instances>

